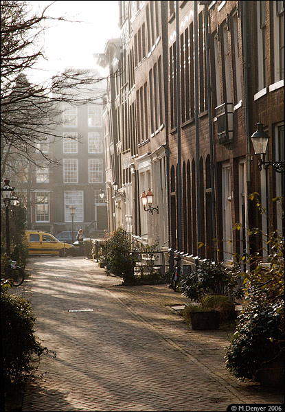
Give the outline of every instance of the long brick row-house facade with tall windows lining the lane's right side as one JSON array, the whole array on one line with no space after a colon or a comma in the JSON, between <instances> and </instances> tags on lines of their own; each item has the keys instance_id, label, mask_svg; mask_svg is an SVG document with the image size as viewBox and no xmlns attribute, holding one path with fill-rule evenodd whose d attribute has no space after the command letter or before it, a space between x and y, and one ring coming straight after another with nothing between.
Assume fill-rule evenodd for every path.
<instances>
[{"instance_id":1,"label":"long brick row-house facade with tall windows lining the lane's right side","mask_svg":"<svg viewBox=\"0 0 285 412\"><path fill-rule=\"evenodd\" d=\"M117 93L106 113L116 119L112 178L123 192L110 193L115 227L158 239L188 264L248 252L236 222L284 232L284 207L269 200L284 196L284 173L260 170L251 144L261 122L266 157L284 161L284 1L119 5ZM148 187L159 213L141 206ZM252 192L268 219L257 220Z\"/></svg>"}]
</instances>

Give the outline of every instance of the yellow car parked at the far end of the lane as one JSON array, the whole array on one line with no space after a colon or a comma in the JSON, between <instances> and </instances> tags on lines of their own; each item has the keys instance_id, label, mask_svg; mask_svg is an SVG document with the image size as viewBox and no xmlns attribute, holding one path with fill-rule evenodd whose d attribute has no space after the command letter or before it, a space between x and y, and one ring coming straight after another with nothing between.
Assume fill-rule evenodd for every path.
<instances>
[{"instance_id":1,"label":"yellow car parked at the far end of the lane","mask_svg":"<svg viewBox=\"0 0 285 412\"><path fill-rule=\"evenodd\" d=\"M27 230L25 237L29 255L59 255L60 258L76 256L76 248L73 244L60 242L45 231Z\"/></svg>"}]
</instances>

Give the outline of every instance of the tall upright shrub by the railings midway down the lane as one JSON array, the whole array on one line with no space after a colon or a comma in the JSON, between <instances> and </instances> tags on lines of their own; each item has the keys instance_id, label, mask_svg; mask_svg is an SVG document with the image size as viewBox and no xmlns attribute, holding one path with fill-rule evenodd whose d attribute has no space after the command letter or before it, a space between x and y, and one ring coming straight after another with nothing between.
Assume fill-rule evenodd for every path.
<instances>
[{"instance_id":1,"label":"tall upright shrub by the railings midway down the lane","mask_svg":"<svg viewBox=\"0 0 285 412\"><path fill-rule=\"evenodd\" d=\"M134 284L131 245L126 231L119 227L112 233L106 244L108 270L114 275L122 277L124 284Z\"/></svg>"}]
</instances>

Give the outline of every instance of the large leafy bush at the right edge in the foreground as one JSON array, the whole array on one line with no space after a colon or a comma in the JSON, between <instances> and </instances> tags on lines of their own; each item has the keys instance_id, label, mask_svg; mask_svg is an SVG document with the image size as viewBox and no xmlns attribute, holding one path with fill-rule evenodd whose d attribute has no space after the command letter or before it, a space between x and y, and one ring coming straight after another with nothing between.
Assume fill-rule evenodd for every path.
<instances>
[{"instance_id":1,"label":"large leafy bush at the right edge in the foreground","mask_svg":"<svg viewBox=\"0 0 285 412\"><path fill-rule=\"evenodd\" d=\"M266 213L258 194L249 198L256 201L260 215ZM237 230L240 227L236 225ZM277 230L262 233L258 227L249 235L265 245L266 253L262 246L240 258L251 271L243 273L244 310L225 357L227 368L239 380L254 379L264 363L280 355L284 367L284 236Z\"/></svg>"}]
</instances>

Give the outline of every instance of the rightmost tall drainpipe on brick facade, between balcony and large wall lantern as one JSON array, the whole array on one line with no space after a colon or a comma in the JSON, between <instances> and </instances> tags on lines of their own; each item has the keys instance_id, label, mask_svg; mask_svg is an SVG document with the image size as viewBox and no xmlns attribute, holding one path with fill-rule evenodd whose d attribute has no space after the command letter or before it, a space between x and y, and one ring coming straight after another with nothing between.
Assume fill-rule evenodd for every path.
<instances>
[{"instance_id":1,"label":"rightmost tall drainpipe on brick facade, between balcony and large wall lantern","mask_svg":"<svg viewBox=\"0 0 285 412\"><path fill-rule=\"evenodd\" d=\"M244 101L245 101L245 126L247 134L247 185L246 198L244 202L245 215L245 252L249 255L249 194L251 194L251 139L249 131L249 82L247 76L247 68L249 65L247 53L247 1L240 2L242 7L242 52L243 52L243 72L244 72ZM249 264L247 263L247 273L250 272Z\"/></svg>"}]
</instances>

